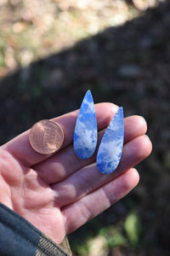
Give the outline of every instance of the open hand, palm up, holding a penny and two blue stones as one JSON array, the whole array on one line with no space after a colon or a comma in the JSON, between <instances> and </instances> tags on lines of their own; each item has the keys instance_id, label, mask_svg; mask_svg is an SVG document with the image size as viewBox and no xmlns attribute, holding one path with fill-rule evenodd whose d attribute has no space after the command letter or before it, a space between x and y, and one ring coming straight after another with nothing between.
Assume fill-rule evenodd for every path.
<instances>
[{"instance_id":1,"label":"open hand, palm up, holding a penny and two blue stones","mask_svg":"<svg viewBox=\"0 0 170 256\"><path fill-rule=\"evenodd\" d=\"M112 103L95 105L99 141L116 110ZM102 174L96 166L96 153L81 160L74 152L77 113L54 119L65 134L62 148L55 154L35 152L29 143L29 131L0 148L0 201L57 243L139 183L133 166L144 160L152 147L144 135L145 120L140 116L127 117L120 164L115 172Z\"/></svg>"}]
</instances>

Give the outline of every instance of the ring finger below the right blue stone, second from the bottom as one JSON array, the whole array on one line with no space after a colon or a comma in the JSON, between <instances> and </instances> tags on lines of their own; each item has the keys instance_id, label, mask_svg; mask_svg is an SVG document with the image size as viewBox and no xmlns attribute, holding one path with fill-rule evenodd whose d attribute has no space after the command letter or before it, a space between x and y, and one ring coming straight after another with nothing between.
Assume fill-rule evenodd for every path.
<instances>
[{"instance_id":1,"label":"ring finger below the right blue stone, second from the bottom","mask_svg":"<svg viewBox=\"0 0 170 256\"><path fill-rule=\"evenodd\" d=\"M96 164L94 164L85 166L62 182L52 185L52 189L56 192L59 207L64 207L79 200L92 191L99 189L105 183L122 175L123 172L144 160L150 154L150 150L150 139L145 136L137 137L125 144L122 150L121 162L116 171L110 175L99 172Z\"/></svg>"}]
</instances>

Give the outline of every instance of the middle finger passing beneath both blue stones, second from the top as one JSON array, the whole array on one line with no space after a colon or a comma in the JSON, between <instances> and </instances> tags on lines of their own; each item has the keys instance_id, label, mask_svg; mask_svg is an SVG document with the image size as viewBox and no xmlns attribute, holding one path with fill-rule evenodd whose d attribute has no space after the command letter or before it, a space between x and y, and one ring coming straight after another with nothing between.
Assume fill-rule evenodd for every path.
<instances>
[{"instance_id":1,"label":"middle finger passing beneath both blue stones, second from the top","mask_svg":"<svg viewBox=\"0 0 170 256\"><path fill-rule=\"evenodd\" d=\"M144 135L147 130L147 125L143 117L131 116L124 120L124 143L133 140L135 137ZM103 131L104 133L104 131ZM100 135L102 137L102 135ZM96 154L88 160L81 160L74 152L74 148L71 146L65 148L64 151L60 151L59 154L55 154L50 159L34 166L40 177L48 183L57 183L65 177L76 172L83 166L89 165L96 159Z\"/></svg>"}]
</instances>

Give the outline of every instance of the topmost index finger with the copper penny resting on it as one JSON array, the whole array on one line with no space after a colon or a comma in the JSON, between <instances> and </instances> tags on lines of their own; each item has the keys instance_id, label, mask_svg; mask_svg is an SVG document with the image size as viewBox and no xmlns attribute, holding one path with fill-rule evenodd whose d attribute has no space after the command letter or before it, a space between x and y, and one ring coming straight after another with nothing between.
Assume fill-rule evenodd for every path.
<instances>
[{"instance_id":1,"label":"topmost index finger with the copper penny resting on it","mask_svg":"<svg viewBox=\"0 0 170 256\"><path fill-rule=\"evenodd\" d=\"M105 128L109 124L112 116L116 113L117 106L112 103L99 103L95 105L96 117L98 121L99 130ZM62 148L72 143L74 127L77 120L78 110L66 113L65 115L55 118L54 121L59 123L64 131L64 143ZM29 131L22 133L20 136L15 137L9 143L3 145L3 148L8 150L10 154L17 158L27 166L33 166L45 160L49 155L38 154L35 152L29 143Z\"/></svg>"}]
</instances>

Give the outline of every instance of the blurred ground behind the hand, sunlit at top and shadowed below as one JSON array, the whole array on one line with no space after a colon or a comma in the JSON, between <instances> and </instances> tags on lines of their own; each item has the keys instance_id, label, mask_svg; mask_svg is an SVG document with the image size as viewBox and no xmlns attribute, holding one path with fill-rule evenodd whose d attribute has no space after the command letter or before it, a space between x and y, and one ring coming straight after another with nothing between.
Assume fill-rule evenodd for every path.
<instances>
[{"instance_id":1,"label":"blurred ground behind the hand, sunlit at top and shadowed below","mask_svg":"<svg viewBox=\"0 0 170 256\"><path fill-rule=\"evenodd\" d=\"M70 236L74 255L170 255L169 84L168 0L0 0L1 144L88 89L148 122L138 187Z\"/></svg>"}]
</instances>

